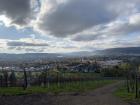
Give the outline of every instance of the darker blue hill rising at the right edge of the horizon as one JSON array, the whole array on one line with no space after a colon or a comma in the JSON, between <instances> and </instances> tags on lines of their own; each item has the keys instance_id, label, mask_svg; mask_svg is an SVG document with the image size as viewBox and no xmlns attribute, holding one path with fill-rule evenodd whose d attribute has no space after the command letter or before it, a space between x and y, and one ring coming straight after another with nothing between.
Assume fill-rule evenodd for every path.
<instances>
[{"instance_id":1,"label":"darker blue hill rising at the right edge of the horizon","mask_svg":"<svg viewBox=\"0 0 140 105\"><path fill-rule=\"evenodd\" d=\"M111 48L95 51L98 55L140 55L140 47Z\"/></svg>"}]
</instances>

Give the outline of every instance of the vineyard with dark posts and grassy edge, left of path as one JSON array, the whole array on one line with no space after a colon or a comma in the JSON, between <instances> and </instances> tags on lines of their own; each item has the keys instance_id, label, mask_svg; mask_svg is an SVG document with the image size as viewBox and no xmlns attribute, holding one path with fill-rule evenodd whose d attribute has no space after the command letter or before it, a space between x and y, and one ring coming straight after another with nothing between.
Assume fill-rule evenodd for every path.
<instances>
[{"instance_id":1,"label":"vineyard with dark posts and grassy edge, left of path","mask_svg":"<svg viewBox=\"0 0 140 105\"><path fill-rule=\"evenodd\" d=\"M111 78L112 79L112 78ZM82 92L115 82L95 72L67 72L64 70L0 72L0 94Z\"/></svg>"}]
</instances>

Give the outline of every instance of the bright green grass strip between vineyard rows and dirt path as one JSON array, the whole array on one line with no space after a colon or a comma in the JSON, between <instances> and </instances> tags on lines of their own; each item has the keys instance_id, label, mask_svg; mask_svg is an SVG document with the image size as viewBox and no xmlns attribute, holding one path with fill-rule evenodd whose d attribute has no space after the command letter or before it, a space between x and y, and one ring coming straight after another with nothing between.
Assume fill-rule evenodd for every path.
<instances>
[{"instance_id":1,"label":"bright green grass strip between vineyard rows and dirt path","mask_svg":"<svg viewBox=\"0 0 140 105\"><path fill-rule=\"evenodd\" d=\"M58 84L51 84L48 87L29 87L23 90L21 87L8 87L0 88L0 95L25 95L25 94L37 94L37 93L54 93L60 92L84 92L94 90L96 88L117 82L117 80L94 80L94 81L83 81L83 82L71 82Z\"/></svg>"}]
</instances>

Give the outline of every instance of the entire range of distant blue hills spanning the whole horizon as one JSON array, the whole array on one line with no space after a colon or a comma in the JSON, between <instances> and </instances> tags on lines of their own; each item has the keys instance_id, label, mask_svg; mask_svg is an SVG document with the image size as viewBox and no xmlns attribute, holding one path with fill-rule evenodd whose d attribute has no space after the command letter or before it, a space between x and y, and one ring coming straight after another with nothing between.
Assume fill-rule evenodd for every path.
<instances>
[{"instance_id":1,"label":"entire range of distant blue hills spanning the whole horizon","mask_svg":"<svg viewBox=\"0 0 140 105\"><path fill-rule=\"evenodd\" d=\"M80 51L71 53L25 53L7 54L0 53L0 61L39 61L60 60L71 57L89 57L94 55L137 55L140 56L140 47L111 48L98 51Z\"/></svg>"}]
</instances>

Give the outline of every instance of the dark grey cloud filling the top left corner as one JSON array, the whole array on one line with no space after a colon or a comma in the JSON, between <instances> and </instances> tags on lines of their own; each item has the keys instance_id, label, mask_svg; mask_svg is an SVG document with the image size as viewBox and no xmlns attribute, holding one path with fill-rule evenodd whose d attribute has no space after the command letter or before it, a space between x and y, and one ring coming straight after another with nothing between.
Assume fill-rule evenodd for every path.
<instances>
[{"instance_id":1,"label":"dark grey cloud filling the top left corner","mask_svg":"<svg viewBox=\"0 0 140 105\"><path fill-rule=\"evenodd\" d=\"M31 0L0 0L0 15L5 15L12 23L26 25L31 18Z\"/></svg>"}]
</instances>

